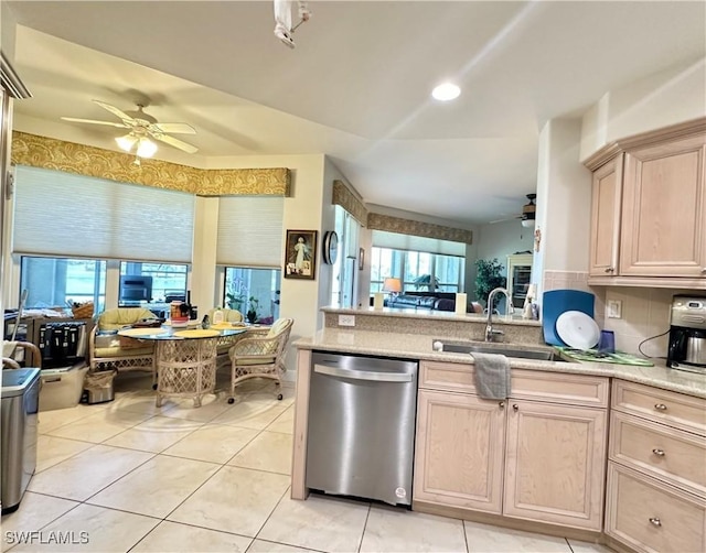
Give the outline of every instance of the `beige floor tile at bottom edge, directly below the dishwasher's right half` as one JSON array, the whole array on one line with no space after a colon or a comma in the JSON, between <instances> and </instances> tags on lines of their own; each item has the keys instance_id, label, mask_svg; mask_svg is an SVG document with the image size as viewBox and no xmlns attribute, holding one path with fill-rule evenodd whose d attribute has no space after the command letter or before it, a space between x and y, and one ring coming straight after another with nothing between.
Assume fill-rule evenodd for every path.
<instances>
[{"instance_id":1,"label":"beige floor tile at bottom edge, directly below the dishwasher's right half","mask_svg":"<svg viewBox=\"0 0 706 553\"><path fill-rule=\"evenodd\" d=\"M362 553L462 552L463 521L373 506L363 533Z\"/></svg>"}]
</instances>

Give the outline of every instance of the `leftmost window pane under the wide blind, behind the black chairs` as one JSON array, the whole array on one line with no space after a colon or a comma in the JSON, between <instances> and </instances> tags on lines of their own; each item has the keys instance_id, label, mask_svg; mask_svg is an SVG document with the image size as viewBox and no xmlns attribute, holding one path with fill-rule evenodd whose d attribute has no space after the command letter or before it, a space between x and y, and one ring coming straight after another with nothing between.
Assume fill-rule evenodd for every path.
<instances>
[{"instance_id":1,"label":"leftmost window pane under the wide blind, behind the black chairs","mask_svg":"<svg viewBox=\"0 0 706 553\"><path fill-rule=\"evenodd\" d=\"M26 308L92 301L100 312L106 302L106 261L22 256L20 290L28 291Z\"/></svg>"}]
</instances>

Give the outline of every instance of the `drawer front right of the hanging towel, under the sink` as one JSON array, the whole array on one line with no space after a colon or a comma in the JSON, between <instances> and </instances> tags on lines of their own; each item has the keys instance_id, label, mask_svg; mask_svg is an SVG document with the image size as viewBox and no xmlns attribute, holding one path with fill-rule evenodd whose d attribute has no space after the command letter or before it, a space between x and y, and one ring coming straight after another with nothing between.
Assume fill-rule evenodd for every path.
<instances>
[{"instance_id":1,"label":"drawer front right of the hanging towel, under the sink","mask_svg":"<svg viewBox=\"0 0 706 553\"><path fill-rule=\"evenodd\" d=\"M608 378L513 369L511 397L569 405L608 406Z\"/></svg>"}]
</instances>

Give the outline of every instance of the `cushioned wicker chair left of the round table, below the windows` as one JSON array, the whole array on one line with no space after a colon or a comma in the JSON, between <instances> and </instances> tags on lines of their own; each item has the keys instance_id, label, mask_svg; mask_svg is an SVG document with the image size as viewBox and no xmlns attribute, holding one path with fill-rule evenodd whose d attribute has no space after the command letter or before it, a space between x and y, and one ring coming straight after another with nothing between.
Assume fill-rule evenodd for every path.
<instances>
[{"instance_id":1,"label":"cushioned wicker chair left of the round table, below the windows","mask_svg":"<svg viewBox=\"0 0 706 553\"><path fill-rule=\"evenodd\" d=\"M88 340L90 371L97 370L150 370L154 373L154 344L120 338L115 334L100 335L106 330L119 330L143 318L156 318L143 307L118 307L106 310L99 316Z\"/></svg>"}]
</instances>

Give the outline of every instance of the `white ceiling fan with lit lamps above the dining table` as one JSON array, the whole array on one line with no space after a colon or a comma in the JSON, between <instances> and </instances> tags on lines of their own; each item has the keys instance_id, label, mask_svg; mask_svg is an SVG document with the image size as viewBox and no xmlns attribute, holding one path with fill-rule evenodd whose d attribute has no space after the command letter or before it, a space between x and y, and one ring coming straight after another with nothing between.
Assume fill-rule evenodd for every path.
<instances>
[{"instance_id":1,"label":"white ceiling fan with lit lamps above the dining table","mask_svg":"<svg viewBox=\"0 0 706 553\"><path fill-rule=\"evenodd\" d=\"M199 149L183 140L170 137L171 134L195 134L196 130L188 123L160 123L157 119L143 111L145 105L137 104L137 110L122 111L121 109L106 104L100 100L93 100L103 109L110 111L114 116L120 119L121 122L101 121L97 119L78 119L75 117L62 117L64 121L72 121L78 123L90 124L106 124L109 127L117 127L118 129L128 129L128 133L118 137L115 141L118 143L121 150L130 152L132 148L137 147L137 158L151 158L157 152L157 144L150 139L159 140L173 148L182 150L188 153L195 153Z\"/></svg>"}]
</instances>

